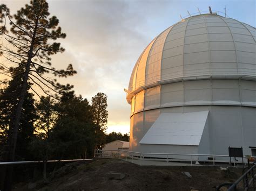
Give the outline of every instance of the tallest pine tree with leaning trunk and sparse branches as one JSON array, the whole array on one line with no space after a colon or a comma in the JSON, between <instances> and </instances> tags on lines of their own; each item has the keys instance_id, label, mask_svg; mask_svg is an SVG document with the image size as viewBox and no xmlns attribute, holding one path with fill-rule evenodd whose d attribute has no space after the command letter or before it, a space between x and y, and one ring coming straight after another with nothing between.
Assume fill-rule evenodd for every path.
<instances>
[{"instance_id":1,"label":"tallest pine tree with leaning trunk and sparse branches","mask_svg":"<svg viewBox=\"0 0 256 191\"><path fill-rule=\"evenodd\" d=\"M60 47L60 43L55 41L59 38L65 38L66 34L62 33L58 26L59 20L55 16L49 18L48 8L48 3L45 0L32 0L30 4L26 4L24 8L12 16L5 5L0 5L0 23L2 23L0 33L4 37L1 39L0 55L7 60L0 63L1 73L11 74L11 66L24 68L21 74L21 92L17 99L14 117L9 126L9 148L6 150L8 153L5 157L7 161L14 161L15 159L22 107L28 88L39 96L31 84L41 89L44 94L56 98L58 98L58 94L63 94L64 91L72 88L70 84L63 86L57 83L57 79L49 78L49 74L67 77L72 76L76 71L73 70L71 64L66 70L51 67L50 56L64 51L64 48ZM10 23L10 33L5 27L7 21ZM48 77L45 74L48 74ZM5 180L2 180L6 183L6 190L11 189L12 168L11 166L8 170Z\"/></svg>"}]
</instances>

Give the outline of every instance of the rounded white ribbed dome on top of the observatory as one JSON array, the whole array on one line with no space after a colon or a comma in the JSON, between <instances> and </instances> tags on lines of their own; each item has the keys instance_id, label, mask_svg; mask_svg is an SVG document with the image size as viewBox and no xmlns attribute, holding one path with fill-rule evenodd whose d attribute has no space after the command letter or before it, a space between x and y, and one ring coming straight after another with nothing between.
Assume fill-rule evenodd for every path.
<instances>
[{"instance_id":1,"label":"rounded white ribbed dome on top of the observatory","mask_svg":"<svg viewBox=\"0 0 256 191\"><path fill-rule=\"evenodd\" d=\"M204 76L256 77L255 27L204 14L170 26L144 49L128 93L154 83Z\"/></svg>"}]
</instances>

